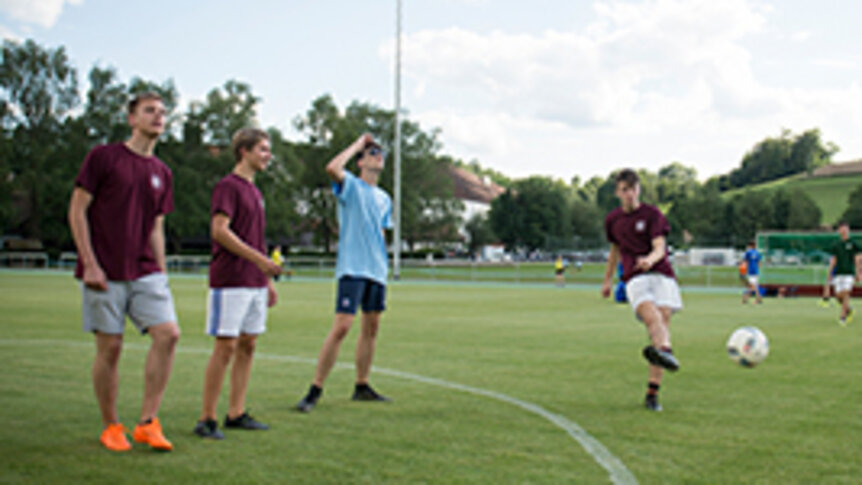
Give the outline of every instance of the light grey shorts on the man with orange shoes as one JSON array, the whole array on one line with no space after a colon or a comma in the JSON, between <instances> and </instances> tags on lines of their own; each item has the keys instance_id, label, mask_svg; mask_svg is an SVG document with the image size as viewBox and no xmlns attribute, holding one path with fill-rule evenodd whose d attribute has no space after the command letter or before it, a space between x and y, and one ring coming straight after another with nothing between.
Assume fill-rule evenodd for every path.
<instances>
[{"instance_id":1,"label":"light grey shorts on the man with orange shoes","mask_svg":"<svg viewBox=\"0 0 862 485\"><path fill-rule=\"evenodd\" d=\"M81 284L85 332L122 335L126 315L141 333L154 325L176 322L174 299L164 273L151 273L132 281L108 281L107 291Z\"/></svg>"}]
</instances>

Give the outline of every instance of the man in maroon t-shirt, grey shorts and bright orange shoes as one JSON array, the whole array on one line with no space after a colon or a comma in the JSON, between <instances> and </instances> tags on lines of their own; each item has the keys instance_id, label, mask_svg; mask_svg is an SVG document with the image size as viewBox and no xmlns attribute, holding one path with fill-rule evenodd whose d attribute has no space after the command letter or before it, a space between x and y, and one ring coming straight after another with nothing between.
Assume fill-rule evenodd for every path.
<instances>
[{"instance_id":1,"label":"man in maroon t-shirt, grey shorts and bright orange shoes","mask_svg":"<svg viewBox=\"0 0 862 485\"><path fill-rule=\"evenodd\" d=\"M93 388L102 413L101 442L131 449L117 413L118 364L126 315L151 339L144 368L138 443L170 451L156 413L180 337L165 266L164 218L174 209L173 176L153 155L165 130L165 105L152 92L129 102L131 137L94 148L75 179L69 226L78 249L84 330L96 337Z\"/></svg>"}]
</instances>

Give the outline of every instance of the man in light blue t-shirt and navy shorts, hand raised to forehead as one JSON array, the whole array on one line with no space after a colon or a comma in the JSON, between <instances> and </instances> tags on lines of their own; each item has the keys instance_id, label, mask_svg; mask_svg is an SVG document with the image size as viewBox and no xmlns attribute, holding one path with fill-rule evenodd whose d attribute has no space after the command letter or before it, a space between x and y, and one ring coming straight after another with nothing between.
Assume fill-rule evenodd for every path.
<instances>
[{"instance_id":1,"label":"man in light blue t-shirt and navy shorts, hand raised to forehead","mask_svg":"<svg viewBox=\"0 0 862 485\"><path fill-rule=\"evenodd\" d=\"M359 177L344 169L356 158ZM368 383L380 316L386 309L388 271L384 230L392 228L392 202L377 186L383 173L383 150L371 135L360 136L326 166L338 199L339 239L335 277L335 320L317 358L314 382L296 405L311 411L323 393L323 382L335 365L341 342L362 307L362 330L356 343L354 401L389 401Z\"/></svg>"}]
</instances>

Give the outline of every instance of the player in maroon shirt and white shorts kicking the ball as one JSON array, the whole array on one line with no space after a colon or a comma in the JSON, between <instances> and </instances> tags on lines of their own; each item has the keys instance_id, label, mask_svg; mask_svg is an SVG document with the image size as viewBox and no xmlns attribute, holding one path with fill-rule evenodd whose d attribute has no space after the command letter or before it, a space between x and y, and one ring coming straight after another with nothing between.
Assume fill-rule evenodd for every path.
<instances>
[{"instance_id":1,"label":"player in maroon shirt and white shorts kicking the ball","mask_svg":"<svg viewBox=\"0 0 862 485\"><path fill-rule=\"evenodd\" d=\"M651 341L643 349L643 356L650 363L644 405L651 411L661 411L658 392L664 369L679 369L671 350L670 318L682 309L676 275L667 256L670 225L656 207L640 202L640 179L636 172L624 169L615 182L620 207L605 218L605 234L611 250L602 296L610 296L611 280L621 259L626 296L637 318L646 325Z\"/></svg>"}]
</instances>

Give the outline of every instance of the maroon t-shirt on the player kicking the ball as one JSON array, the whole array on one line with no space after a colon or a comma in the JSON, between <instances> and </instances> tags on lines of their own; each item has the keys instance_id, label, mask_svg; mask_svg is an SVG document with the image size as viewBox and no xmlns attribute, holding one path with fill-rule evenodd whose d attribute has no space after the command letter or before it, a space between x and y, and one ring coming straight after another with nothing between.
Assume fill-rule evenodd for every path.
<instances>
[{"instance_id":1,"label":"maroon t-shirt on the player kicking the ball","mask_svg":"<svg viewBox=\"0 0 862 485\"><path fill-rule=\"evenodd\" d=\"M635 268L635 262L640 256L652 252L652 240L670 233L670 224L664 214L655 206L641 204L631 212L625 212L621 207L612 210L605 218L605 234L608 241L620 249L623 263L623 281L628 281L644 271ZM649 273L661 273L675 278L673 268L667 259L667 249L661 260L653 265Z\"/></svg>"}]
</instances>

